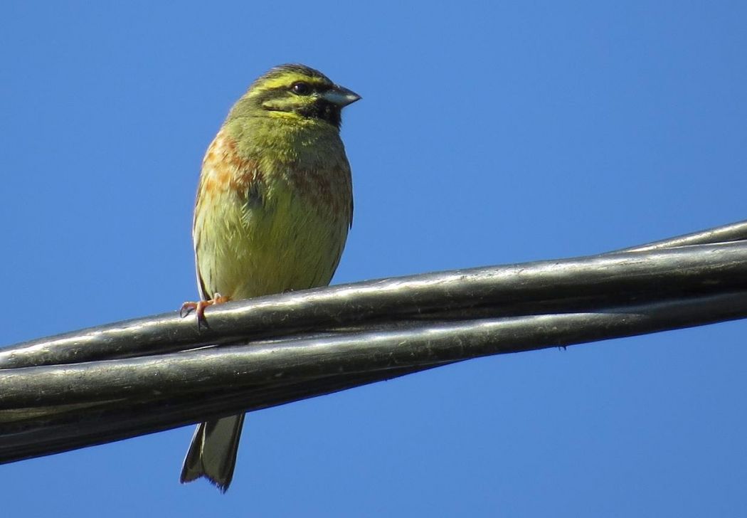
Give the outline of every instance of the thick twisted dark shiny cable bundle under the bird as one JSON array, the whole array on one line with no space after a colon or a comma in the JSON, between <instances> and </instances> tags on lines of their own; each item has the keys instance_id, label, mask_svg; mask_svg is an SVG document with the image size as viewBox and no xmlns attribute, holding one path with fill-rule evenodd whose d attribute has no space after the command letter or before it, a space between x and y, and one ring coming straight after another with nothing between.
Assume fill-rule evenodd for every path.
<instances>
[{"instance_id":1,"label":"thick twisted dark shiny cable bundle under the bird","mask_svg":"<svg viewBox=\"0 0 747 518\"><path fill-rule=\"evenodd\" d=\"M176 312L0 349L0 463L491 354L747 317L747 221L598 256Z\"/></svg>"}]
</instances>

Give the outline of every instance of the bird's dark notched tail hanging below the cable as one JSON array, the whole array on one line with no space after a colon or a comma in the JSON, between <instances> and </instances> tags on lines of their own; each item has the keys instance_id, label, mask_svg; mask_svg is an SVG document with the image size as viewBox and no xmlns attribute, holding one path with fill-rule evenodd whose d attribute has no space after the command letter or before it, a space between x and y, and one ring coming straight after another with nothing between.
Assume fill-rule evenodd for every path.
<instances>
[{"instance_id":1,"label":"bird's dark notched tail hanging below the cable","mask_svg":"<svg viewBox=\"0 0 747 518\"><path fill-rule=\"evenodd\" d=\"M197 425L179 481L184 484L205 477L226 493L236 466L242 425L243 413Z\"/></svg>"}]
</instances>

